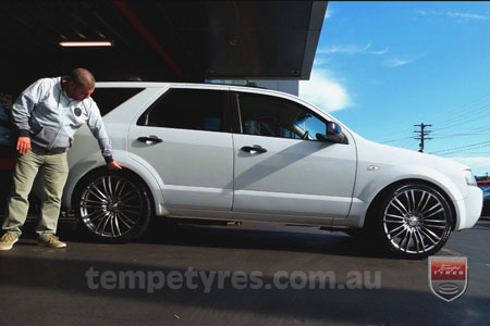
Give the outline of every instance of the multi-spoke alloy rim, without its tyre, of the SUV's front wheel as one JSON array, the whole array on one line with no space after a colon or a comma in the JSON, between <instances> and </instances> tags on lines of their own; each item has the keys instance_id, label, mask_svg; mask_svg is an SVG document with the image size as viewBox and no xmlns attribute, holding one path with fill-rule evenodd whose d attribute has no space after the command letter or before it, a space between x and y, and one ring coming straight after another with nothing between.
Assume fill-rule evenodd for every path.
<instances>
[{"instance_id":1,"label":"multi-spoke alloy rim, without its tyre, of the SUV's front wheel","mask_svg":"<svg viewBox=\"0 0 490 326\"><path fill-rule=\"evenodd\" d=\"M396 250L414 254L430 251L446 240L451 224L442 198L424 189L408 188L388 203L384 234Z\"/></svg>"}]
</instances>

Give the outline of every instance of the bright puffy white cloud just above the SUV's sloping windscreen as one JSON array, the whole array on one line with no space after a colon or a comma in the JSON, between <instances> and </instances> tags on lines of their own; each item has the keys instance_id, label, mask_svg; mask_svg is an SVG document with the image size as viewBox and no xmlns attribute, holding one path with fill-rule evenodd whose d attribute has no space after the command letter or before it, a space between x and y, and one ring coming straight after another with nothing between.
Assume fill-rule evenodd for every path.
<instances>
[{"instance_id":1,"label":"bright puffy white cloud just above the SUV's sloping windscreen","mask_svg":"<svg viewBox=\"0 0 490 326\"><path fill-rule=\"evenodd\" d=\"M299 82L299 97L327 112L352 105L347 90L327 70L313 70L309 80Z\"/></svg>"}]
</instances>

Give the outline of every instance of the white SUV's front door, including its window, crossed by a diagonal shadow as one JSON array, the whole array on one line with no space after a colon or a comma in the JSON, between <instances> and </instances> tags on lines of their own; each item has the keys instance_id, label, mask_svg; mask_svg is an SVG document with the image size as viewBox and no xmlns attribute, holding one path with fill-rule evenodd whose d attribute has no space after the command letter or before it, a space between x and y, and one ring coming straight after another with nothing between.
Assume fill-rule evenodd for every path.
<instances>
[{"instance_id":1,"label":"white SUV's front door, including its window, crossed by a diagonal shadow","mask_svg":"<svg viewBox=\"0 0 490 326\"><path fill-rule=\"evenodd\" d=\"M242 128L233 135L233 212L289 215L290 221L346 216L356 171L353 138L346 135L348 143L317 140L327 120L285 98L242 91L231 99Z\"/></svg>"}]
</instances>

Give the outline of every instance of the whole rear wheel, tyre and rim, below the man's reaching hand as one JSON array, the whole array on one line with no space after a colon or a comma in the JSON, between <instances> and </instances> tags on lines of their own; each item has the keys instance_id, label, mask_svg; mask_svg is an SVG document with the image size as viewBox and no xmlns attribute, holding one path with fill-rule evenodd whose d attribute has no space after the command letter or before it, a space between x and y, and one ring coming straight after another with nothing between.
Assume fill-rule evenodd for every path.
<instances>
[{"instance_id":1,"label":"whole rear wheel, tyre and rim, below the man's reaching hand","mask_svg":"<svg viewBox=\"0 0 490 326\"><path fill-rule=\"evenodd\" d=\"M73 208L82 229L103 242L127 242L145 233L151 220L148 187L138 177L96 171L76 186Z\"/></svg>"}]
</instances>

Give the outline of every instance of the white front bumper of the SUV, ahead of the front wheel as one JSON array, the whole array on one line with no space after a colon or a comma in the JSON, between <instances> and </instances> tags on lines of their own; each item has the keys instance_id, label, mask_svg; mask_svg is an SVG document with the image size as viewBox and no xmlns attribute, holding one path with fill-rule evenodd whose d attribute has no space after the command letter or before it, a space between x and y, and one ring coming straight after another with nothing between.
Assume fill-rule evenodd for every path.
<instances>
[{"instance_id":1,"label":"white front bumper of the SUV, ahead of the front wheel","mask_svg":"<svg viewBox=\"0 0 490 326\"><path fill-rule=\"evenodd\" d=\"M454 230L473 227L481 215L483 192L478 187L468 187L468 196L456 201L456 215L458 216Z\"/></svg>"}]
</instances>

